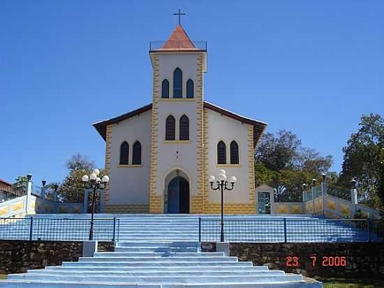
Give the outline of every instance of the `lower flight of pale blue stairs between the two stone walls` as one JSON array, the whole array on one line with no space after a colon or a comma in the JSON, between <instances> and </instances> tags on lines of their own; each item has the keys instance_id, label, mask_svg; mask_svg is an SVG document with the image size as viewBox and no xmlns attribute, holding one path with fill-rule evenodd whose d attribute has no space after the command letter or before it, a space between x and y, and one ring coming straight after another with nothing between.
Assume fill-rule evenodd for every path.
<instances>
[{"instance_id":1,"label":"lower flight of pale blue stairs between the two stone walls","mask_svg":"<svg viewBox=\"0 0 384 288\"><path fill-rule=\"evenodd\" d=\"M223 252L198 252L197 242L118 242L78 262L8 275L0 287L318 288L301 275L269 271Z\"/></svg>"}]
</instances>

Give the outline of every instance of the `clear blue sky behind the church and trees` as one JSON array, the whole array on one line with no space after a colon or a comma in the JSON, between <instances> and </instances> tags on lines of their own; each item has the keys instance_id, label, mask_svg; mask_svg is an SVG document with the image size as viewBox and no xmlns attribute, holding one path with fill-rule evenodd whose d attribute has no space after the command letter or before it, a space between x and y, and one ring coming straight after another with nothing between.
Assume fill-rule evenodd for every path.
<instances>
[{"instance_id":1,"label":"clear blue sky behind the church and trees","mask_svg":"<svg viewBox=\"0 0 384 288\"><path fill-rule=\"evenodd\" d=\"M384 1L0 1L0 178L62 180L91 124L152 101L148 45L207 40L205 100L293 131L339 171L360 116L384 115ZM225 133L225 131L223 131Z\"/></svg>"}]
</instances>

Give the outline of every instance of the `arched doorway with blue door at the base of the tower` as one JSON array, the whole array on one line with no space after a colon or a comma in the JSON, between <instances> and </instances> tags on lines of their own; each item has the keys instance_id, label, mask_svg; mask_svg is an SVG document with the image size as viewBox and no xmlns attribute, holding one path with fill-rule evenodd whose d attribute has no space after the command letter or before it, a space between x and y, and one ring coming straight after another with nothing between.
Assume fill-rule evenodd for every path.
<instances>
[{"instance_id":1,"label":"arched doorway with blue door at the base of the tower","mask_svg":"<svg viewBox=\"0 0 384 288\"><path fill-rule=\"evenodd\" d=\"M168 213L189 213L189 182L176 176L168 184Z\"/></svg>"}]
</instances>

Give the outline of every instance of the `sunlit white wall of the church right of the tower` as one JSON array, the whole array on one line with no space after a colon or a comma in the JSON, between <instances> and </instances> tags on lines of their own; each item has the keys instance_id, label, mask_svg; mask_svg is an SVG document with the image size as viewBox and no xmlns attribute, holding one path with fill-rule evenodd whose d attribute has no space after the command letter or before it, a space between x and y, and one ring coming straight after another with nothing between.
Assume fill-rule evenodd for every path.
<instances>
[{"instance_id":1,"label":"sunlit white wall of the church right of the tower","mask_svg":"<svg viewBox=\"0 0 384 288\"><path fill-rule=\"evenodd\" d=\"M225 169L228 176L234 175L237 178L235 188L226 192L224 199L226 203L244 203L249 202L249 166L248 166L248 127L249 124L242 124L225 115L215 111L208 111L208 174L217 175L220 169ZM239 145L239 166L221 167L217 165L217 143L223 141L226 143L227 164L230 164L230 142L237 141ZM219 202L220 193L218 191L208 192L210 202ZM254 192L253 192L254 193Z\"/></svg>"}]
</instances>

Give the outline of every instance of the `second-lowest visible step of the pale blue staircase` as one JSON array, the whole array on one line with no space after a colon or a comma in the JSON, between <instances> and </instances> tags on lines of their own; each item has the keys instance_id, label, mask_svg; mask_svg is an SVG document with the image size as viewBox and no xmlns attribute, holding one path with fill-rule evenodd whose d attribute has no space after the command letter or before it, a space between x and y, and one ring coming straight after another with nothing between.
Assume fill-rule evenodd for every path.
<instances>
[{"instance_id":1,"label":"second-lowest visible step of the pale blue staircase","mask_svg":"<svg viewBox=\"0 0 384 288\"><path fill-rule=\"evenodd\" d=\"M268 273L265 273L268 274ZM141 283L154 283L154 284L177 284L177 283L263 283L263 282L287 282L287 281L300 281L301 275L283 274L283 275L242 275L241 278L237 275L221 275L221 276L198 276L193 278L188 276L179 276L178 274L170 276L110 276L110 275L50 275L50 274L33 274L33 273L20 273L8 275L8 280L57 280L57 281L76 281L76 282L135 282Z\"/></svg>"}]
</instances>

